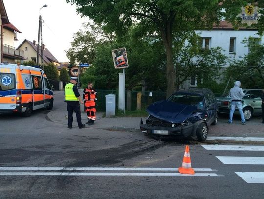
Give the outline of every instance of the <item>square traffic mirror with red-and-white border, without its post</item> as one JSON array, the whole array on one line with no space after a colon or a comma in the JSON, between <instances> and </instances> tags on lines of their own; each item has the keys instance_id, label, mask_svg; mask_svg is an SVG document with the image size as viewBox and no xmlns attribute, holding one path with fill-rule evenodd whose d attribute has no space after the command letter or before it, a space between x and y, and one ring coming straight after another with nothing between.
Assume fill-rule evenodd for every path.
<instances>
[{"instance_id":1,"label":"square traffic mirror with red-and-white border, without its post","mask_svg":"<svg viewBox=\"0 0 264 199\"><path fill-rule=\"evenodd\" d=\"M115 69L128 67L128 57L126 48L112 50L112 55Z\"/></svg>"}]
</instances>

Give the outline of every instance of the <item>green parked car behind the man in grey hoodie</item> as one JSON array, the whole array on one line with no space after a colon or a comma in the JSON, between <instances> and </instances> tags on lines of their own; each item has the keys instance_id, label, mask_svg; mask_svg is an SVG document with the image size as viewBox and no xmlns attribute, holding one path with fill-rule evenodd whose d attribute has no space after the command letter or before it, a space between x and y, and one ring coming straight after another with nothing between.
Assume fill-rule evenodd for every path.
<instances>
[{"instance_id":1,"label":"green parked car behind the man in grey hoodie","mask_svg":"<svg viewBox=\"0 0 264 199\"><path fill-rule=\"evenodd\" d=\"M245 96L242 99L242 107L245 116L245 120L248 121L254 115L261 115L261 89L243 89ZM231 97L229 93L224 94L222 97L217 97L217 104L219 107L219 113L229 114L231 106ZM239 111L236 108L234 114L239 115Z\"/></svg>"}]
</instances>

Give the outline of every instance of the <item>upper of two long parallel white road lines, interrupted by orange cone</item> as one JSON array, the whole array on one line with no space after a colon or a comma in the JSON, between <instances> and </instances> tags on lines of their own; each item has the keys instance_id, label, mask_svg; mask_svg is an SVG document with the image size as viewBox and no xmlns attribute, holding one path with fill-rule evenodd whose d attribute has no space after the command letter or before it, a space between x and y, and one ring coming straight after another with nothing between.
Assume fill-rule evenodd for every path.
<instances>
[{"instance_id":1,"label":"upper of two long parallel white road lines, interrupted by orange cone","mask_svg":"<svg viewBox=\"0 0 264 199\"><path fill-rule=\"evenodd\" d=\"M178 171L178 168L154 167L0 167L0 170L17 171ZM195 171L217 171L210 168L194 168Z\"/></svg>"}]
</instances>

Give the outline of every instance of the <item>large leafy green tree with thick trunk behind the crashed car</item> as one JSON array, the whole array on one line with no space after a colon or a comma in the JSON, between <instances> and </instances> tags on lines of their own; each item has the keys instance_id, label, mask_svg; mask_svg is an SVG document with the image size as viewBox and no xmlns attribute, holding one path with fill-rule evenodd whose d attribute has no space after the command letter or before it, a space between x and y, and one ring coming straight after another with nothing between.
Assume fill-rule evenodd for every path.
<instances>
[{"instance_id":1,"label":"large leafy green tree with thick trunk behind the crashed car","mask_svg":"<svg viewBox=\"0 0 264 199\"><path fill-rule=\"evenodd\" d=\"M123 35L132 24L159 36L166 52L167 95L175 91L176 70L173 61L173 39L188 39L189 32L210 29L220 19L221 0L66 0L77 5L77 11L107 30Z\"/></svg>"}]
</instances>

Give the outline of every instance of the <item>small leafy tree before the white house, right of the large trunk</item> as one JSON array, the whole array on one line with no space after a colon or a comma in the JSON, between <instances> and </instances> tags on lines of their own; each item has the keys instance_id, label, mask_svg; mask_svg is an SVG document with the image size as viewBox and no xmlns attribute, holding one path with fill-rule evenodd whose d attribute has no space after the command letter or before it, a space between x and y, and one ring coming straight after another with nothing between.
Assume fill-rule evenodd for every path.
<instances>
[{"instance_id":1,"label":"small leafy tree before the white house, right of the large trunk","mask_svg":"<svg viewBox=\"0 0 264 199\"><path fill-rule=\"evenodd\" d=\"M208 85L218 79L220 69L225 66L227 57L220 47L202 49L199 38L194 35L182 50L176 52L176 88L184 81L196 76L198 85Z\"/></svg>"}]
</instances>

